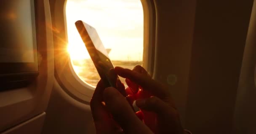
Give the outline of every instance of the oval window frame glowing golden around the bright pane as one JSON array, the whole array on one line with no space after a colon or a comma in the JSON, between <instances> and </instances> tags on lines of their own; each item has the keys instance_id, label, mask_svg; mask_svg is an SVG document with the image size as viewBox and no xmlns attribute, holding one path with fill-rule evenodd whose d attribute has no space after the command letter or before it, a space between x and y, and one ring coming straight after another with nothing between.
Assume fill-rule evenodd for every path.
<instances>
[{"instance_id":1,"label":"oval window frame glowing golden around the bright pane","mask_svg":"<svg viewBox=\"0 0 256 134\"><path fill-rule=\"evenodd\" d=\"M67 0L50 1L55 61L54 76L68 95L77 101L88 104L91 101L94 88L77 76L66 51L68 39L66 3ZM154 0L141 0L141 4L144 14L142 66L152 75L155 56L156 9Z\"/></svg>"}]
</instances>

